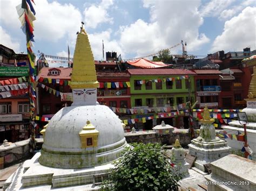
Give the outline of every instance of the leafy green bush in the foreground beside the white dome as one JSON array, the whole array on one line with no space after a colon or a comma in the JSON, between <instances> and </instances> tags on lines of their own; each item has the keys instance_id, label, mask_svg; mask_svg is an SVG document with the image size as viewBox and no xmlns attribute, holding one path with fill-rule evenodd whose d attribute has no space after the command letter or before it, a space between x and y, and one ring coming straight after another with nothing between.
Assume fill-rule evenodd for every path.
<instances>
[{"instance_id":1,"label":"leafy green bush in the foreground beside the white dome","mask_svg":"<svg viewBox=\"0 0 256 191\"><path fill-rule=\"evenodd\" d=\"M134 143L115 163L103 190L177 190L182 174L160 144Z\"/></svg>"}]
</instances>

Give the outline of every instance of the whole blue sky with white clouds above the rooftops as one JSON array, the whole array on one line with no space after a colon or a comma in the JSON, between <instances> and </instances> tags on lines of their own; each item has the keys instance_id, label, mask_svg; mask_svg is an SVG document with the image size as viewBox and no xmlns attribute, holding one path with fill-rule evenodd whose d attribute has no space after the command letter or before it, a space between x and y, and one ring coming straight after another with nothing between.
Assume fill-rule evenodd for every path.
<instances>
[{"instance_id":1,"label":"whole blue sky with white clouds above the rooftops","mask_svg":"<svg viewBox=\"0 0 256 191\"><path fill-rule=\"evenodd\" d=\"M22 0L0 0L0 44L25 52L16 6ZM123 59L145 56L187 42L188 54L255 48L256 4L253 0L34 0L36 5L33 51L73 54L76 32L85 23L95 60L104 49ZM181 46L171 49L181 53Z\"/></svg>"}]
</instances>

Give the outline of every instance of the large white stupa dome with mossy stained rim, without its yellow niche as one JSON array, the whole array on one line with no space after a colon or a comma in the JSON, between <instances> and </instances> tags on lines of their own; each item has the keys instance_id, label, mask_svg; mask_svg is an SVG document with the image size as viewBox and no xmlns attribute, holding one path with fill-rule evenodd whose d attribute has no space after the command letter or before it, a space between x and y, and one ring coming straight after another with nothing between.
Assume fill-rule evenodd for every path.
<instances>
[{"instance_id":1,"label":"large white stupa dome with mossy stained rim, without its yellow niche","mask_svg":"<svg viewBox=\"0 0 256 191\"><path fill-rule=\"evenodd\" d=\"M81 148L79 132L87 121L99 132L97 147ZM62 168L97 166L117 159L125 145L122 123L105 105L65 107L48 124L39 162Z\"/></svg>"}]
</instances>

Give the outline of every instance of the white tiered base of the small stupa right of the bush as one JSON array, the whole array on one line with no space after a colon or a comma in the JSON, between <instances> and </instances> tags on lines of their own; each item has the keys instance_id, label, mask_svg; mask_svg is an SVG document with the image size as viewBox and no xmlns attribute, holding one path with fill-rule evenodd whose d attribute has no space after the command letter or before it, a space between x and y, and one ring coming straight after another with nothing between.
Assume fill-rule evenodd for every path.
<instances>
[{"instance_id":1,"label":"white tiered base of the small stupa right of the bush","mask_svg":"<svg viewBox=\"0 0 256 191\"><path fill-rule=\"evenodd\" d=\"M197 157L194 166L203 172L205 172L205 164L209 164L231 153L231 147L227 146L227 143L220 139L212 140L211 142L193 139L188 147L190 147L190 154Z\"/></svg>"}]
</instances>

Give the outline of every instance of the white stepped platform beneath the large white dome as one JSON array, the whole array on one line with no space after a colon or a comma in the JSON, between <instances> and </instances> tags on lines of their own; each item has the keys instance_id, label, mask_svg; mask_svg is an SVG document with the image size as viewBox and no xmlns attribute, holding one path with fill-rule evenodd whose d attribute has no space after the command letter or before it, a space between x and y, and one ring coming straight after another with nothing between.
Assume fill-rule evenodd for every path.
<instances>
[{"instance_id":1,"label":"white stepped platform beneath the large white dome","mask_svg":"<svg viewBox=\"0 0 256 191\"><path fill-rule=\"evenodd\" d=\"M46 167L38 162L41 153L31 160L26 160L18 170L4 183L4 190L93 190L93 185L102 182L113 164L105 164L91 168L64 169Z\"/></svg>"}]
</instances>

